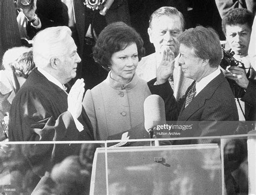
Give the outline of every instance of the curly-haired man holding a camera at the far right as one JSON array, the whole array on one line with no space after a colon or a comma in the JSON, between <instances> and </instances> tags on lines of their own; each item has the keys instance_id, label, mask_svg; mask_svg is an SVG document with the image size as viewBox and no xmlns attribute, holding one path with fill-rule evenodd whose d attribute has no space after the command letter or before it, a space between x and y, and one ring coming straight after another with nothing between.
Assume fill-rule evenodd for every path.
<instances>
[{"instance_id":1,"label":"curly-haired man holding a camera at the far right","mask_svg":"<svg viewBox=\"0 0 256 195\"><path fill-rule=\"evenodd\" d=\"M220 66L226 69L224 74L233 91L240 121L255 120L255 100L251 96L255 94L255 71L248 55L253 19L252 12L237 8L229 11L222 21L230 50L224 52ZM247 99L247 96L251 98Z\"/></svg>"}]
</instances>

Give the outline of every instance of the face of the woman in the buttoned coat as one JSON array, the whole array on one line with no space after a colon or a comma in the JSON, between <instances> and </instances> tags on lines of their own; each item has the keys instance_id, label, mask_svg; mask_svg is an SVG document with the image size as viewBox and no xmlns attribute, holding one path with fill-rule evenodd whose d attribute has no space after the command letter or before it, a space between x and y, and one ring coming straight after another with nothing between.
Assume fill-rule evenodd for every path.
<instances>
[{"instance_id":1,"label":"face of the woman in the buttoned coat","mask_svg":"<svg viewBox=\"0 0 256 195\"><path fill-rule=\"evenodd\" d=\"M111 78L120 82L131 81L139 62L136 43L127 45L124 50L112 54L110 60Z\"/></svg>"}]
</instances>

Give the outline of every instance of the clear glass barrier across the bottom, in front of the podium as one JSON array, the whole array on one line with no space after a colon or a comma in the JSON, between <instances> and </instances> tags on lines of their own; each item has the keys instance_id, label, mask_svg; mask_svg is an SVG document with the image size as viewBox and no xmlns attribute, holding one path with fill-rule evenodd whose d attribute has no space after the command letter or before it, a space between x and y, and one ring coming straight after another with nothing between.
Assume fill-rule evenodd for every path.
<instances>
[{"instance_id":1,"label":"clear glass barrier across the bottom, in front of the podium","mask_svg":"<svg viewBox=\"0 0 256 195\"><path fill-rule=\"evenodd\" d=\"M1 142L0 192L250 193L247 135L179 138L196 144L173 144L177 139L126 140L119 147L124 141ZM255 136L252 141L256 145Z\"/></svg>"}]
</instances>

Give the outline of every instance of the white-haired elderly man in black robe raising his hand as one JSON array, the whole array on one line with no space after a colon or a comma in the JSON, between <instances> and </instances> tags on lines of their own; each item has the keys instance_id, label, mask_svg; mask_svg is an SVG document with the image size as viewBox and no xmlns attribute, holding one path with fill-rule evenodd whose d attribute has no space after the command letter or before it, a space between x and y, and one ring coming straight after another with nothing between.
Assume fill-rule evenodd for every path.
<instances>
[{"instance_id":1,"label":"white-haired elderly man in black robe raising his hand","mask_svg":"<svg viewBox=\"0 0 256 195\"><path fill-rule=\"evenodd\" d=\"M82 107L83 79L75 82L69 94L64 86L75 78L80 62L69 27L39 32L34 38L33 59L36 68L12 101L9 141L93 140L92 126ZM28 144L25 150L39 176L80 149L79 144L40 145Z\"/></svg>"}]
</instances>

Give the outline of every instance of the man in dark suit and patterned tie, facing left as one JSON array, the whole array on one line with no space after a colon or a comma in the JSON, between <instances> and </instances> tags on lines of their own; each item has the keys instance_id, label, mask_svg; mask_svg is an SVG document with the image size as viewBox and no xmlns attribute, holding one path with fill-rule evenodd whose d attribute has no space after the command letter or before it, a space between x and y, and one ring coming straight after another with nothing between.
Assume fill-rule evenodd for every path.
<instances>
[{"instance_id":1,"label":"man in dark suit and patterned tie, facing left","mask_svg":"<svg viewBox=\"0 0 256 195\"><path fill-rule=\"evenodd\" d=\"M185 96L176 101L172 97L171 120L179 124L198 121L192 129L182 130L181 137L220 136L233 134L237 124L230 127L218 121L237 121L238 112L230 86L219 69L221 46L213 29L198 26L188 29L180 37L178 60L185 77L194 82ZM173 92L172 92L173 93ZM192 143L190 140L178 144Z\"/></svg>"}]
</instances>

